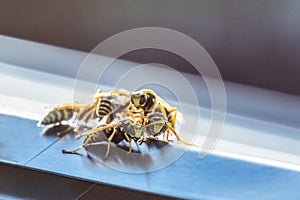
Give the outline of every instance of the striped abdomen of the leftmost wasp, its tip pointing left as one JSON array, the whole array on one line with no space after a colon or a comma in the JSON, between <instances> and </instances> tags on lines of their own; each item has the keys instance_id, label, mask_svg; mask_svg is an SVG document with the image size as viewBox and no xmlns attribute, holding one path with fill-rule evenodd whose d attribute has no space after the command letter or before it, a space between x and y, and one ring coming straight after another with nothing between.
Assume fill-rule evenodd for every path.
<instances>
[{"instance_id":1,"label":"striped abdomen of the leftmost wasp, its tip pointing left","mask_svg":"<svg viewBox=\"0 0 300 200\"><path fill-rule=\"evenodd\" d=\"M73 116L73 109L52 110L40 122L41 125L53 124L69 120Z\"/></svg>"}]
</instances>

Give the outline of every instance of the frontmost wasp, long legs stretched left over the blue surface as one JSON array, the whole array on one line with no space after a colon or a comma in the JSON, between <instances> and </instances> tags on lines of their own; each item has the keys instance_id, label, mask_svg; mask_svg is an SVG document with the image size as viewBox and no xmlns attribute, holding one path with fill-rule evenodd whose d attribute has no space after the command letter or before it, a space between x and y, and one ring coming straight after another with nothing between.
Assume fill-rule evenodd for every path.
<instances>
[{"instance_id":1,"label":"frontmost wasp, long legs stretched left over the blue surface","mask_svg":"<svg viewBox=\"0 0 300 200\"><path fill-rule=\"evenodd\" d=\"M74 150L65 150L63 149L63 153L76 153L82 148L86 148L90 143L93 143L94 138L97 134L105 134L108 140L107 151L105 153L104 158L107 158L110 152L110 142L115 144L119 144L121 141L127 141L129 144L128 152L132 152L131 141L139 141L144 140L144 130L142 124L136 123L133 119L122 119L117 123L111 124L102 124L97 128L89 130L85 133L79 134L76 136L76 139L86 136L83 144Z\"/></svg>"}]
</instances>

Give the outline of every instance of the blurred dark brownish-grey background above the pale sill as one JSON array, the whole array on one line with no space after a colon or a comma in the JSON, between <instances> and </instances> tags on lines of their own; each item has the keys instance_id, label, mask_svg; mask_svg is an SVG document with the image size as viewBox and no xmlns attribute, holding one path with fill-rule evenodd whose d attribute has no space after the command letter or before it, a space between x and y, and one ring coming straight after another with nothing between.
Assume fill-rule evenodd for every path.
<instances>
[{"instance_id":1,"label":"blurred dark brownish-grey background above the pale sill","mask_svg":"<svg viewBox=\"0 0 300 200\"><path fill-rule=\"evenodd\" d=\"M197 40L225 80L300 95L298 0L1 0L0 24L3 35L87 52L121 31L170 28ZM123 58L195 72L158 50Z\"/></svg>"}]
</instances>

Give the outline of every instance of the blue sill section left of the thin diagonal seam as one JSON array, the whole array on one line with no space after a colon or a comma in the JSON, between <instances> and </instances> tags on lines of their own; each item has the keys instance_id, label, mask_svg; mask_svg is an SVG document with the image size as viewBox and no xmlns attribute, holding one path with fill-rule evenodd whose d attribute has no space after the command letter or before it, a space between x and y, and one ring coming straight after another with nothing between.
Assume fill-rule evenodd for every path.
<instances>
[{"instance_id":1,"label":"blue sill section left of the thin diagonal seam","mask_svg":"<svg viewBox=\"0 0 300 200\"><path fill-rule=\"evenodd\" d=\"M4 162L25 164L58 140L41 137L36 122L0 114L0 159Z\"/></svg>"}]
</instances>

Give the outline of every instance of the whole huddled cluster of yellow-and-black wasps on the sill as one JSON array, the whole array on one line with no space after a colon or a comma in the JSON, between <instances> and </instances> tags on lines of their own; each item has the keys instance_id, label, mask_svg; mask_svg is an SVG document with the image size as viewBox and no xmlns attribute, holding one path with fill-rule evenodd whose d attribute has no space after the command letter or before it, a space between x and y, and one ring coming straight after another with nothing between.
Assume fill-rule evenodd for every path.
<instances>
[{"instance_id":1,"label":"whole huddled cluster of yellow-and-black wasps on the sill","mask_svg":"<svg viewBox=\"0 0 300 200\"><path fill-rule=\"evenodd\" d=\"M105 157L110 151L110 142L119 144L126 141L129 152L132 151L131 142L137 144L151 142L164 138L169 140L170 134L184 144L175 130L177 108L170 106L150 89L129 93L123 90L103 92L98 90L92 103L71 103L54 107L38 124L61 126L64 122L65 130L57 132L62 136L71 130L82 132L76 139L85 137L83 144L74 150L63 150L63 153L76 153L93 143L95 137L104 134L108 140ZM91 121L98 121L91 125ZM162 137L161 137L162 136Z\"/></svg>"}]
</instances>

